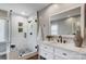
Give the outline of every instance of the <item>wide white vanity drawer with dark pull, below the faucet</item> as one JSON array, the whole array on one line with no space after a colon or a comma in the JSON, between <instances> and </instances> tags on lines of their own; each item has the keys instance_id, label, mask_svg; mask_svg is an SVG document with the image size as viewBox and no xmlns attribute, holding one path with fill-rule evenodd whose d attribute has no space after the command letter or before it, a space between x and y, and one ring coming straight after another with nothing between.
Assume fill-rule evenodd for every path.
<instances>
[{"instance_id":1,"label":"wide white vanity drawer with dark pull, below the faucet","mask_svg":"<svg viewBox=\"0 0 86 64\"><path fill-rule=\"evenodd\" d=\"M69 59L69 60L79 60L81 59L81 55L78 53L63 50L63 49L54 49L54 54L60 55L64 59Z\"/></svg>"}]
</instances>

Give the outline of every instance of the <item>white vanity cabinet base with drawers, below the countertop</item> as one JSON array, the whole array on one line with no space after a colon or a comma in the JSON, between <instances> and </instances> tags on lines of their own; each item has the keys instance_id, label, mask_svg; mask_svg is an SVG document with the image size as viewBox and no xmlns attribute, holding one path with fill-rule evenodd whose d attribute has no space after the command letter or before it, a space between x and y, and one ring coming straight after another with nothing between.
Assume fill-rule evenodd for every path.
<instances>
[{"instance_id":1,"label":"white vanity cabinet base with drawers, below the countertop","mask_svg":"<svg viewBox=\"0 0 86 64\"><path fill-rule=\"evenodd\" d=\"M86 60L84 54L46 43L39 44L39 55L47 60Z\"/></svg>"}]
</instances>

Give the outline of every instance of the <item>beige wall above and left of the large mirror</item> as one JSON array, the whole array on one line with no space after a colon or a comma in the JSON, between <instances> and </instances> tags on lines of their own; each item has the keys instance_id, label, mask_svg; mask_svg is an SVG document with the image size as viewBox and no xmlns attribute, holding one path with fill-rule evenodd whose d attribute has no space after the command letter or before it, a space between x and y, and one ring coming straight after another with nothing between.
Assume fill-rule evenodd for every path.
<instances>
[{"instance_id":1,"label":"beige wall above and left of the large mirror","mask_svg":"<svg viewBox=\"0 0 86 64\"><path fill-rule=\"evenodd\" d=\"M70 8L77 7L81 4L75 3L60 3L60 4L49 4L45 9L39 11L39 22L44 29L44 39L47 35L50 34L49 31L49 18L52 14L59 13L61 11L65 11Z\"/></svg>"}]
</instances>

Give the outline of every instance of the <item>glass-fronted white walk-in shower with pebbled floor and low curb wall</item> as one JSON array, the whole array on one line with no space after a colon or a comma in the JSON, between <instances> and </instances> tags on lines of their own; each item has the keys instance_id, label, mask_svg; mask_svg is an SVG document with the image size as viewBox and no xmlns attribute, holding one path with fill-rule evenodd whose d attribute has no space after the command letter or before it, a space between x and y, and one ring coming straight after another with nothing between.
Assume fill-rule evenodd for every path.
<instances>
[{"instance_id":1,"label":"glass-fronted white walk-in shower with pebbled floor and low curb wall","mask_svg":"<svg viewBox=\"0 0 86 64\"><path fill-rule=\"evenodd\" d=\"M9 59L26 59L37 52L37 22L11 12L11 44Z\"/></svg>"}]
</instances>

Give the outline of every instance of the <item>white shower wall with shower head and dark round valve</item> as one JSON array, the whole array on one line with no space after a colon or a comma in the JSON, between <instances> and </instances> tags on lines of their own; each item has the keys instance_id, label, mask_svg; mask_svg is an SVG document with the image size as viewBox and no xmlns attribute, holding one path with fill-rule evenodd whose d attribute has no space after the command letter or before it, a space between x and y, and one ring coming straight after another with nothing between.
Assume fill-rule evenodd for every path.
<instances>
[{"instance_id":1,"label":"white shower wall with shower head and dark round valve","mask_svg":"<svg viewBox=\"0 0 86 64\"><path fill-rule=\"evenodd\" d=\"M35 48L37 46L37 23L35 22L37 20L37 14L34 13L28 17L28 21L32 21L28 23L27 26L27 43L28 43L28 49L32 52L36 52L37 49ZM30 35L33 33L33 35Z\"/></svg>"}]
</instances>

